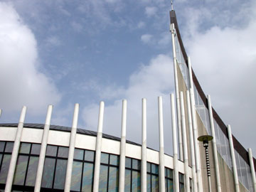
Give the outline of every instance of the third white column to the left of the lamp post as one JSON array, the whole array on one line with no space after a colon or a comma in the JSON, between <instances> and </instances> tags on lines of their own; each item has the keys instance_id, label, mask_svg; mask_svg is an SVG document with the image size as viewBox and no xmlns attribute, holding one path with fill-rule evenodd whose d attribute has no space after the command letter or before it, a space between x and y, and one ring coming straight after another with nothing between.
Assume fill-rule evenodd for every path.
<instances>
[{"instance_id":1,"label":"third white column to the left of the lamp post","mask_svg":"<svg viewBox=\"0 0 256 192\"><path fill-rule=\"evenodd\" d=\"M181 95L181 127L182 127L182 137L183 137L183 157L184 157L184 170L185 170L185 191L189 192L189 176L188 176L188 145L186 140L186 120L185 120L185 110L184 110L184 100L183 92Z\"/></svg>"}]
</instances>

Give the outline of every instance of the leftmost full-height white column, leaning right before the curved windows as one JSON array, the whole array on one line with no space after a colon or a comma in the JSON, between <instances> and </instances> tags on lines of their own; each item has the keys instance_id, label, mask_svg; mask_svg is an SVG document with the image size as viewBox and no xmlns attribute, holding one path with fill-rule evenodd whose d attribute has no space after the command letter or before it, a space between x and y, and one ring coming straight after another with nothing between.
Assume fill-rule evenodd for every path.
<instances>
[{"instance_id":1,"label":"leftmost full-height white column, leaning right before the curved windows","mask_svg":"<svg viewBox=\"0 0 256 192\"><path fill-rule=\"evenodd\" d=\"M10 166L9 166L9 171L7 174L7 179L6 179L6 187L5 187L5 192L11 192L11 186L14 181L14 172L16 168L16 162L18 159L18 149L21 144L21 134L22 134L22 129L23 129L23 124L24 120L26 117L26 106L22 107L21 110L21 116L18 122L18 127L16 131L16 137L14 141L14 149L11 153L11 161L10 161Z\"/></svg>"}]
</instances>

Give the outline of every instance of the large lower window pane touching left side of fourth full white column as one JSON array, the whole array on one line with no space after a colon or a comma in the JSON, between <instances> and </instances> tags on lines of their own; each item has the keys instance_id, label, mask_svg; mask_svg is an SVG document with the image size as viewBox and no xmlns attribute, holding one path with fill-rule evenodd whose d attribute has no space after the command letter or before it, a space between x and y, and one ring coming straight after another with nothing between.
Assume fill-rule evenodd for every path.
<instances>
[{"instance_id":1,"label":"large lower window pane touching left side of fourth full white column","mask_svg":"<svg viewBox=\"0 0 256 192\"><path fill-rule=\"evenodd\" d=\"M82 191L91 192L92 181L93 181L93 164L84 163L84 169L82 174Z\"/></svg>"}]
</instances>

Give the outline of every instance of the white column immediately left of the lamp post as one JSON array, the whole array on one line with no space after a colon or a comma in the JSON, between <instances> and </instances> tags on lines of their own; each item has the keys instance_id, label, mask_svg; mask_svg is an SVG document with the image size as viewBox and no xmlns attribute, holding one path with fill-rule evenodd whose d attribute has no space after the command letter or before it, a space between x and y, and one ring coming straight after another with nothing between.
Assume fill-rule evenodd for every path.
<instances>
[{"instance_id":1,"label":"white column immediately left of the lamp post","mask_svg":"<svg viewBox=\"0 0 256 192\"><path fill-rule=\"evenodd\" d=\"M203 191L203 181L202 181L202 173L201 173L201 157L199 153L199 144L198 144L198 129L197 129L197 122L196 122L196 107L195 107L195 97L193 94L193 90L190 88L190 99L191 99L191 114L192 114L192 124L193 124L193 139L195 145L195 154L196 154L196 175L198 181L198 192Z\"/></svg>"}]
</instances>

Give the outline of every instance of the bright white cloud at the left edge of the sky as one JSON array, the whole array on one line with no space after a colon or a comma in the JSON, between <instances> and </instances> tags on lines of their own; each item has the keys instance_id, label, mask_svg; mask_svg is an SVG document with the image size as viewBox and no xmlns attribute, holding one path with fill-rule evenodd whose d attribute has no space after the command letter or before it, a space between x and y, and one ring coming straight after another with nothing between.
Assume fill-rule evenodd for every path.
<instances>
[{"instance_id":1,"label":"bright white cloud at the left edge of the sky","mask_svg":"<svg viewBox=\"0 0 256 192\"><path fill-rule=\"evenodd\" d=\"M0 106L16 112L22 105L28 112L45 113L48 104L57 104L55 85L38 71L36 39L9 4L0 3Z\"/></svg>"}]
</instances>

